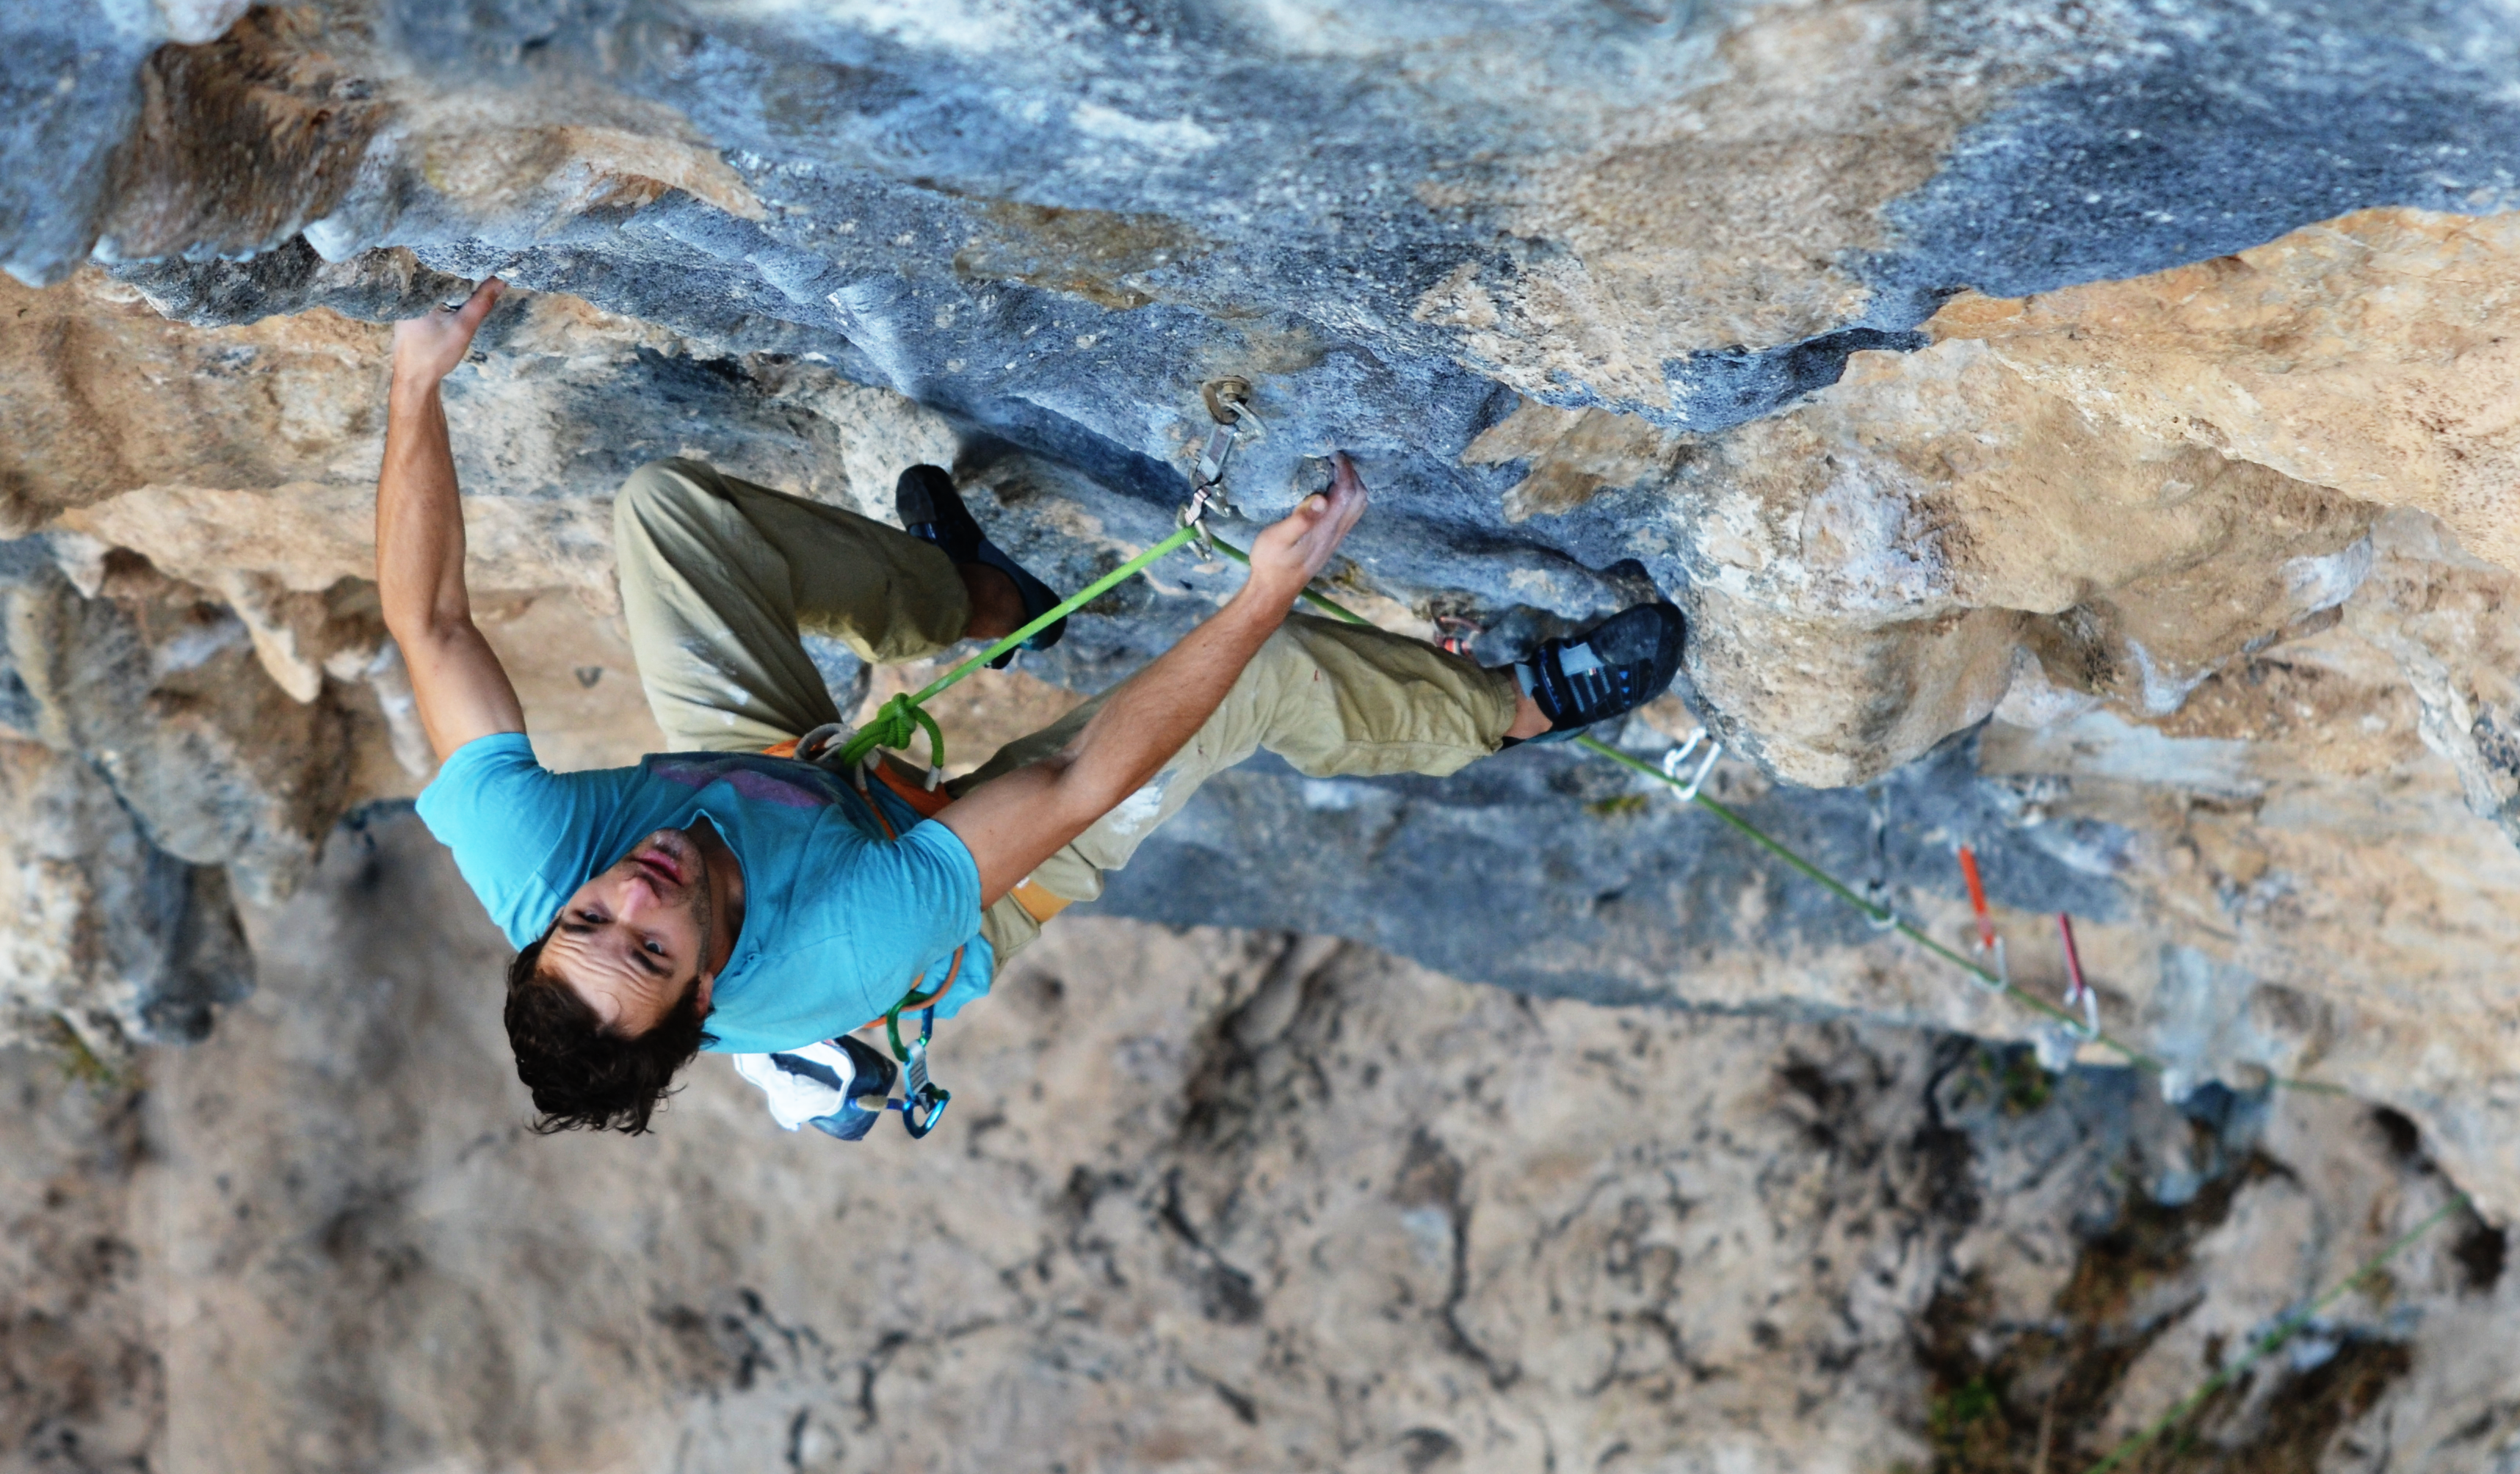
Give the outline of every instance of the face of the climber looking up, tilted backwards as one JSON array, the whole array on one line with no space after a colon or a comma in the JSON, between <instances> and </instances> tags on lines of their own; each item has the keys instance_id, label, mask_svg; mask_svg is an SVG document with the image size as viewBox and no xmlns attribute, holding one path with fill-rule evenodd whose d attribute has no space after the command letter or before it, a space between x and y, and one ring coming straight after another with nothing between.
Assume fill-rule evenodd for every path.
<instances>
[{"instance_id":1,"label":"face of the climber looking up, tilted backwards","mask_svg":"<svg viewBox=\"0 0 2520 1474\"><path fill-rule=\"evenodd\" d=\"M680 829L658 829L559 907L539 973L570 983L607 1033L638 1038L690 988L708 1010L713 978L701 968L711 922L701 847Z\"/></svg>"}]
</instances>

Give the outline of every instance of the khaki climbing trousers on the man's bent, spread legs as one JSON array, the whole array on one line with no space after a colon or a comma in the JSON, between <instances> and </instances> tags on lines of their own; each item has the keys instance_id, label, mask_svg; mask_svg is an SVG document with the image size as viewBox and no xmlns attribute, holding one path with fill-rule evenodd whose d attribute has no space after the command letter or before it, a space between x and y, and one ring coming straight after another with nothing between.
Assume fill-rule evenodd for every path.
<instances>
[{"instance_id":1,"label":"khaki climbing trousers on the man's bent, spread legs","mask_svg":"<svg viewBox=\"0 0 2520 1474\"><path fill-rule=\"evenodd\" d=\"M612 504L612 544L648 708L675 751L751 753L839 721L799 632L900 663L953 648L970 620L963 580L937 547L701 461L640 466ZM1101 700L1008 743L948 789L968 794L1056 753ZM1068 902L1096 900L1106 869L1129 864L1200 784L1257 748L1315 779L1452 774L1497 751L1515 700L1502 670L1386 630L1290 615L1189 746L1031 879ZM1008 957L1041 922L1005 897L980 930Z\"/></svg>"}]
</instances>

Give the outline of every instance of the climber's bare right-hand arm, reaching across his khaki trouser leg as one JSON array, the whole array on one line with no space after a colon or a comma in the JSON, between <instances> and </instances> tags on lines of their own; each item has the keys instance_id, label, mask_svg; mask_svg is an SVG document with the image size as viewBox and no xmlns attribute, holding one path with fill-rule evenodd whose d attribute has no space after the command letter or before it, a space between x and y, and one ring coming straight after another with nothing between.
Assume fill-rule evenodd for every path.
<instances>
[{"instance_id":1,"label":"climber's bare right-hand arm, reaching across his khaki trouser leg","mask_svg":"<svg viewBox=\"0 0 2520 1474\"><path fill-rule=\"evenodd\" d=\"M1366 511L1366 484L1346 456L1326 496L1308 496L1252 542L1250 582L1179 645L1114 690L1058 756L980 784L937 824L980 862L980 905L1144 789L1197 736L1260 643Z\"/></svg>"}]
</instances>

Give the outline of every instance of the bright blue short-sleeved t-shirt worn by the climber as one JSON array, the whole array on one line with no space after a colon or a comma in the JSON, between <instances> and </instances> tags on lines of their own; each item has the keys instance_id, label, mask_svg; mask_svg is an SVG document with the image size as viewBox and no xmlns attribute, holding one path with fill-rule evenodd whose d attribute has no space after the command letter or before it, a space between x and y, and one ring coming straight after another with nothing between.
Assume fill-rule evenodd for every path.
<instances>
[{"instance_id":1,"label":"bright blue short-sleeved t-shirt worn by the climber","mask_svg":"<svg viewBox=\"0 0 2520 1474\"><path fill-rule=\"evenodd\" d=\"M874 784L885 839L839 776L794 758L655 753L635 768L554 774L524 733L456 748L421 794L421 819L524 947L587 877L658 829L701 814L743 864L743 930L711 990L718 1053L774 1053L847 1033L935 988L963 947L950 1015L988 993L980 867L953 829Z\"/></svg>"}]
</instances>

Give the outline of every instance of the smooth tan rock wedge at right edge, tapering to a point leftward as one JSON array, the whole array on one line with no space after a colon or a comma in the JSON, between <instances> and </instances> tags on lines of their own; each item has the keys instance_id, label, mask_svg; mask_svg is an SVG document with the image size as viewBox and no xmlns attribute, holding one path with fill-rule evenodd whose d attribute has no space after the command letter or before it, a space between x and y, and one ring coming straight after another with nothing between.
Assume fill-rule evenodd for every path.
<instances>
[{"instance_id":1,"label":"smooth tan rock wedge at right edge, tapering to a point leftward","mask_svg":"<svg viewBox=\"0 0 2520 1474\"><path fill-rule=\"evenodd\" d=\"M2520 214L2366 209L2233 257L1925 325L2099 423L2439 517L2520 569Z\"/></svg>"}]
</instances>

